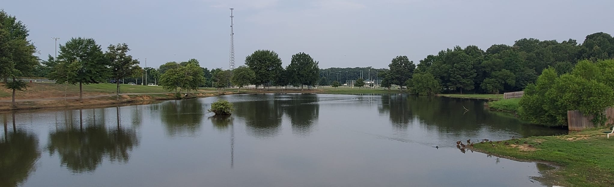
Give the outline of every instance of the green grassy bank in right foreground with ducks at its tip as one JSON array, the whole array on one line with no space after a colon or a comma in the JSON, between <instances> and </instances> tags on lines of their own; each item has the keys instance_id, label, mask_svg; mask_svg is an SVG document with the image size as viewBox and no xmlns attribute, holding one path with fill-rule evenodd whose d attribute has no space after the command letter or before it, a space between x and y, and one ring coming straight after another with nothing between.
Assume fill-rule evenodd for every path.
<instances>
[{"instance_id":1,"label":"green grassy bank in right foreground with ducks at its tip","mask_svg":"<svg viewBox=\"0 0 614 187\"><path fill-rule=\"evenodd\" d=\"M606 139L604 131L608 130L599 129L572 132L569 135L475 143L473 149L494 155L558 164L561 168L545 174L545 177L553 181L554 185L612 186L614 184L614 139ZM515 143L516 141L518 143ZM505 145L505 142L510 145Z\"/></svg>"}]
</instances>

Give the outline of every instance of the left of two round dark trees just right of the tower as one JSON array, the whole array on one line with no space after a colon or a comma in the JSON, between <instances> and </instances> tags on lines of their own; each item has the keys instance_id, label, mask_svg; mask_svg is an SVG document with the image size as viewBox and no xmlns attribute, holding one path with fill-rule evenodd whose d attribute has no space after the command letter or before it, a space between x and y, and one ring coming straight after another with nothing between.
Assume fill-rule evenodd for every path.
<instances>
[{"instance_id":1,"label":"left of two round dark trees just right of the tower","mask_svg":"<svg viewBox=\"0 0 614 187\"><path fill-rule=\"evenodd\" d=\"M256 86L276 80L282 71L281 58L270 50L255 51L245 58L245 64L254 71L256 77L252 83Z\"/></svg>"}]
</instances>

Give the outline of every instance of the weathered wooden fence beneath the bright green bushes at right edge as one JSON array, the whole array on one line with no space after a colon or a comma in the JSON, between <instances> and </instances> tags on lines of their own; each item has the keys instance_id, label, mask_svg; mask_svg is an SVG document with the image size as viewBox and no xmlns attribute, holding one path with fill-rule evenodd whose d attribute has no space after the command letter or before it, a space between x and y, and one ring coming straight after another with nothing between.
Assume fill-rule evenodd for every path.
<instances>
[{"instance_id":1,"label":"weathered wooden fence beneath the bright green bushes at right edge","mask_svg":"<svg viewBox=\"0 0 614 187\"><path fill-rule=\"evenodd\" d=\"M614 124L614 108L608 107L604 110L604 115L607 118L605 124ZM569 131L582 131L584 129L595 128L593 122L594 116L582 115L580 110L567 111L567 127Z\"/></svg>"}]
</instances>

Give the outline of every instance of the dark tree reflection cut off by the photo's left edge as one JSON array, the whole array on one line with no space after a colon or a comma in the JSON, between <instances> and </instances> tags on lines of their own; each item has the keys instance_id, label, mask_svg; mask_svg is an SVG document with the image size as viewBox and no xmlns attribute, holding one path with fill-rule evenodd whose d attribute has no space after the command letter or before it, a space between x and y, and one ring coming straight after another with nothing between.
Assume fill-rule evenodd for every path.
<instances>
[{"instance_id":1,"label":"dark tree reflection cut off by the photo's left edge","mask_svg":"<svg viewBox=\"0 0 614 187\"><path fill-rule=\"evenodd\" d=\"M15 114L12 114L15 118ZM4 115L4 137L0 139L0 186L18 186L26 181L34 172L34 164L41 156L36 134L16 129L13 121L13 131L7 127L7 116Z\"/></svg>"}]
</instances>

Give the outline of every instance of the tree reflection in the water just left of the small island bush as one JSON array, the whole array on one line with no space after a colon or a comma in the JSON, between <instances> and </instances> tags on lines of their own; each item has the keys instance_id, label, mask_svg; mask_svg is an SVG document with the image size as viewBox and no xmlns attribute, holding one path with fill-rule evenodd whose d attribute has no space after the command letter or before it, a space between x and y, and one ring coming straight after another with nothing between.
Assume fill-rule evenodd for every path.
<instances>
[{"instance_id":1,"label":"tree reflection in the water just left of the small island bush","mask_svg":"<svg viewBox=\"0 0 614 187\"><path fill-rule=\"evenodd\" d=\"M160 118L170 137L194 137L200 130L204 107L200 99L170 101L160 105Z\"/></svg>"}]
</instances>

